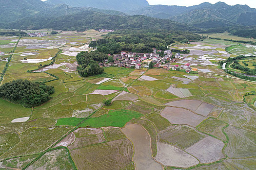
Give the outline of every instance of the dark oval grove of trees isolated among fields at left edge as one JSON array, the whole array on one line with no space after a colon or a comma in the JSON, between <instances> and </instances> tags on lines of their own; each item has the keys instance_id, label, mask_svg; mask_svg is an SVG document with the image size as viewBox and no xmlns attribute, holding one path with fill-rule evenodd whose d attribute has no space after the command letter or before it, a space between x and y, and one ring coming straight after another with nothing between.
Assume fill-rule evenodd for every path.
<instances>
[{"instance_id":1,"label":"dark oval grove of trees isolated among fields at left edge","mask_svg":"<svg viewBox=\"0 0 256 170\"><path fill-rule=\"evenodd\" d=\"M0 98L25 107L34 107L47 102L53 93L53 86L21 79L0 86Z\"/></svg>"}]
</instances>

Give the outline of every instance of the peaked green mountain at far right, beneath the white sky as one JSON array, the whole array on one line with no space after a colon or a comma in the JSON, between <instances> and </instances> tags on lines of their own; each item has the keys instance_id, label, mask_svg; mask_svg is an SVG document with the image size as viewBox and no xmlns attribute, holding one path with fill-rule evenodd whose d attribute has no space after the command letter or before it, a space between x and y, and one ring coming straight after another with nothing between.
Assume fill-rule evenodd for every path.
<instances>
[{"instance_id":1,"label":"peaked green mountain at far right, beneath the white sky","mask_svg":"<svg viewBox=\"0 0 256 170\"><path fill-rule=\"evenodd\" d=\"M233 26L237 24L255 25L256 9L247 5L230 6L224 2L217 2L202 9L196 9L170 19L181 23L192 24L201 28Z\"/></svg>"}]
</instances>

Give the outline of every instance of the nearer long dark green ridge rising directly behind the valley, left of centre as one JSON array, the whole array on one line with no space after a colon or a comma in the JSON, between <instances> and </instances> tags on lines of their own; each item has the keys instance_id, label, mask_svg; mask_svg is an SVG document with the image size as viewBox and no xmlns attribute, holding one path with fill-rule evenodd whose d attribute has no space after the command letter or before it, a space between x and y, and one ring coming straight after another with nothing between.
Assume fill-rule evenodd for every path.
<instances>
[{"instance_id":1,"label":"nearer long dark green ridge rising directly behind the valley, left of centre","mask_svg":"<svg viewBox=\"0 0 256 170\"><path fill-rule=\"evenodd\" d=\"M95 11L82 11L76 14L59 17L30 17L10 24L13 29L42 29L56 30L85 29L166 29L166 30L191 30L184 24L169 19L158 19L147 16L118 16L107 15Z\"/></svg>"}]
</instances>

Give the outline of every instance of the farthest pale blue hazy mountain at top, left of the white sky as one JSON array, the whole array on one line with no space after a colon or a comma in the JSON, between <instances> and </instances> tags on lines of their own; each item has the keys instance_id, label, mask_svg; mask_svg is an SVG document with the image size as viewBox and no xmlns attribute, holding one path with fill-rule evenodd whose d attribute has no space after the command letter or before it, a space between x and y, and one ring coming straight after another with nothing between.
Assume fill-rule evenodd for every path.
<instances>
[{"instance_id":1,"label":"farthest pale blue hazy mountain at top, left of the white sky","mask_svg":"<svg viewBox=\"0 0 256 170\"><path fill-rule=\"evenodd\" d=\"M46 3L54 5L64 3L74 7L92 7L116 11L136 9L149 5L146 0L47 0Z\"/></svg>"}]
</instances>

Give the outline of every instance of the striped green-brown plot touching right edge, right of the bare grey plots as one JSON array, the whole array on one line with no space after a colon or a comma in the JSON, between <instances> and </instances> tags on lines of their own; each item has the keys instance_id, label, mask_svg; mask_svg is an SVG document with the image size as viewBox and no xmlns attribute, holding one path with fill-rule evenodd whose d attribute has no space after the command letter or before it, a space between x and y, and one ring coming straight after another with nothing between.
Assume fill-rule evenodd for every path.
<instances>
[{"instance_id":1,"label":"striped green-brown plot touching right edge, right of the bare grey plots","mask_svg":"<svg viewBox=\"0 0 256 170\"><path fill-rule=\"evenodd\" d=\"M229 141L224 152L231 158L256 155L256 135L253 132L229 126L224 130Z\"/></svg>"}]
</instances>

